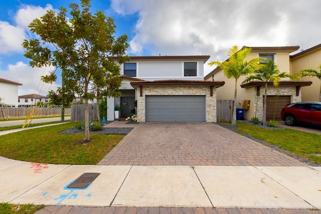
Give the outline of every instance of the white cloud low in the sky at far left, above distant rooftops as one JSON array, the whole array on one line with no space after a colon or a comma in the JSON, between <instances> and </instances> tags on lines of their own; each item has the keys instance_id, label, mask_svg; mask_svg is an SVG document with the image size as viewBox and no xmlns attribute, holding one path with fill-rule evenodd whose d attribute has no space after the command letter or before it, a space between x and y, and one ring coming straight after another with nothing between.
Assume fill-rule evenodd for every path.
<instances>
[{"instance_id":1,"label":"white cloud low in the sky at far left, above distant rooftops","mask_svg":"<svg viewBox=\"0 0 321 214\"><path fill-rule=\"evenodd\" d=\"M40 94L47 96L48 91L56 91L57 87L61 87L41 81L41 76L47 75L52 69L54 68L32 68L23 62L17 62L16 65L8 65L7 71L0 71L0 76L23 84L19 86L19 95Z\"/></svg>"}]
</instances>

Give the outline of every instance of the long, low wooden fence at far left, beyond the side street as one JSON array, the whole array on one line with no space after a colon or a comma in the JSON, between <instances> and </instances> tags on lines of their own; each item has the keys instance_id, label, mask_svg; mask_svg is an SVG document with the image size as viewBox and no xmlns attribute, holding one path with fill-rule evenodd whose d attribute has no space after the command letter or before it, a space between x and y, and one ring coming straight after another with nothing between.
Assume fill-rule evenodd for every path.
<instances>
[{"instance_id":1,"label":"long, low wooden fence at far left, beyond the side street","mask_svg":"<svg viewBox=\"0 0 321 214\"><path fill-rule=\"evenodd\" d=\"M32 112L34 114L32 114ZM47 108L47 107L3 107L0 110L0 118L26 118L27 114L32 114L34 117L48 117L61 115L61 108ZM70 114L70 108L65 108L65 115Z\"/></svg>"}]
</instances>

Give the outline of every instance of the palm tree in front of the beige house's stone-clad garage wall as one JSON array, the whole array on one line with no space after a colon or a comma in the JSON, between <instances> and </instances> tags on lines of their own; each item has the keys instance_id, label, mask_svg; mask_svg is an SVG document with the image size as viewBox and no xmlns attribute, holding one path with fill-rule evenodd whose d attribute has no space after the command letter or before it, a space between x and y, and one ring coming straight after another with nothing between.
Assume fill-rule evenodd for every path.
<instances>
[{"instance_id":1,"label":"palm tree in front of the beige house's stone-clad garage wall","mask_svg":"<svg viewBox=\"0 0 321 214\"><path fill-rule=\"evenodd\" d=\"M273 60L269 60L266 64L260 64L258 69L250 76L246 77L243 83L250 82L251 80L259 80L265 84L264 104L263 104L263 118L262 124L266 124L266 94L267 94L267 83L273 82L273 86L277 87L280 83L281 78L289 77L291 79L298 78L294 75L287 74L286 72L280 73L277 65L274 64Z\"/></svg>"}]
</instances>

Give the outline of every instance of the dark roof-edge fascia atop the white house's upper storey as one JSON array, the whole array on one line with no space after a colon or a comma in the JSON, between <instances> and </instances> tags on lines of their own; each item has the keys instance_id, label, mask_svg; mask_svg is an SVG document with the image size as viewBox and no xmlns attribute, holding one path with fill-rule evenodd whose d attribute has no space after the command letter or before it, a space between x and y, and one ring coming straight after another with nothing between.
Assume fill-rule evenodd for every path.
<instances>
[{"instance_id":1,"label":"dark roof-edge fascia atop the white house's upper storey","mask_svg":"<svg viewBox=\"0 0 321 214\"><path fill-rule=\"evenodd\" d=\"M154 60L202 60L205 64L208 59L210 59L209 55L198 55L198 56L129 56L130 61L154 61ZM118 57L112 57L113 60L118 60Z\"/></svg>"}]
</instances>

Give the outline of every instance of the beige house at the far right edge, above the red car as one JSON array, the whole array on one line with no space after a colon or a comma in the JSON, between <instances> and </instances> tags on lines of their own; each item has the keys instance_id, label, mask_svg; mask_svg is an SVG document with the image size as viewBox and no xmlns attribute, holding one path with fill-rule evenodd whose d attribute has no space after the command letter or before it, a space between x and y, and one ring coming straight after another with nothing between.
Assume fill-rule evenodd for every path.
<instances>
[{"instance_id":1,"label":"beige house at the far right edge, above the red car","mask_svg":"<svg viewBox=\"0 0 321 214\"><path fill-rule=\"evenodd\" d=\"M290 56L291 74L296 74L304 69L319 70L321 65L321 44ZM312 81L312 85L302 88L302 101L319 101L321 81L317 77L303 77L301 81Z\"/></svg>"}]
</instances>

